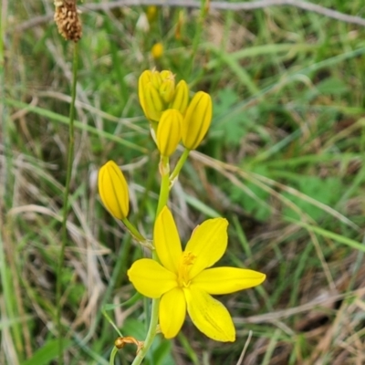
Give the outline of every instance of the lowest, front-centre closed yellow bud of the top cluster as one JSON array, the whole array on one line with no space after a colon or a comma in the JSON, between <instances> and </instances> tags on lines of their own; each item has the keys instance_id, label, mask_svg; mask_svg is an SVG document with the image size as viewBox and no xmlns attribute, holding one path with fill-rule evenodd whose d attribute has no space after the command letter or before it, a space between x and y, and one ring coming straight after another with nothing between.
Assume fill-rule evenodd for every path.
<instances>
[{"instance_id":1,"label":"lowest, front-centre closed yellow bud of the top cluster","mask_svg":"<svg viewBox=\"0 0 365 365\"><path fill-rule=\"evenodd\" d=\"M182 139L183 115L179 110L163 111L157 127L156 142L162 156L170 157Z\"/></svg>"}]
</instances>

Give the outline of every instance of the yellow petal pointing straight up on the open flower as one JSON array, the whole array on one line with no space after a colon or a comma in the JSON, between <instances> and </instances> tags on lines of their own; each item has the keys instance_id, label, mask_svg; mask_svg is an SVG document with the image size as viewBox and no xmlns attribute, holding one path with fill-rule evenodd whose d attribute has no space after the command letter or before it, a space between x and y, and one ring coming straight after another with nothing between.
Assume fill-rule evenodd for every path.
<instances>
[{"instance_id":1,"label":"yellow petal pointing straight up on the open flower","mask_svg":"<svg viewBox=\"0 0 365 365\"><path fill-rule=\"evenodd\" d=\"M177 274L183 254L182 244L172 213L167 206L163 207L156 219L153 241L162 266Z\"/></svg>"}]
</instances>

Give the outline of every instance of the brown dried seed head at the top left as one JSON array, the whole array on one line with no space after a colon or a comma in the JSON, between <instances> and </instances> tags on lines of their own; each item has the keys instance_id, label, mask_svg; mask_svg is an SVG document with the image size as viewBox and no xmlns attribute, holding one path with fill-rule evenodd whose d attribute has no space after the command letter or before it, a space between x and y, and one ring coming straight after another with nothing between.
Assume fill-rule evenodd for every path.
<instances>
[{"instance_id":1,"label":"brown dried seed head at the top left","mask_svg":"<svg viewBox=\"0 0 365 365\"><path fill-rule=\"evenodd\" d=\"M55 0L55 22L58 33L67 40L78 42L82 26L78 17L76 0Z\"/></svg>"}]
</instances>

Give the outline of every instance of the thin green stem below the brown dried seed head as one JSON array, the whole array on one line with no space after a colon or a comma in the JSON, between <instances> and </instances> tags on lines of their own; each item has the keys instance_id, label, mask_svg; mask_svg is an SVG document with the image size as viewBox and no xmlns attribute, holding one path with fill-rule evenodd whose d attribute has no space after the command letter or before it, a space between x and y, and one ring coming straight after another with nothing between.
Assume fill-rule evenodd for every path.
<instances>
[{"instance_id":1,"label":"thin green stem below the brown dried seed head","mask_svg":"<svg viewBox=\"0 0 365 365\"><path fill-rule=\"evenodd\" d=\"M68 127L68 166L66 174L66 186L63 198L63 216L62 216L62 243L59 253L58 266L57 266L57 283L56 283L56 306L57 306L57 331L58 331L58 364L63 364L63 333L61 323L61 296L62 296L62 268L65 261L65 248L68 242L68 195L71 182L72 162L74 158L74 144L75 144L75 100L76 100L76 88L78 84L78 44L74 43L74 55L72 65L72 89L71 89L71 104L69 106L69 127Z\"/></svg>"}]
</instances>

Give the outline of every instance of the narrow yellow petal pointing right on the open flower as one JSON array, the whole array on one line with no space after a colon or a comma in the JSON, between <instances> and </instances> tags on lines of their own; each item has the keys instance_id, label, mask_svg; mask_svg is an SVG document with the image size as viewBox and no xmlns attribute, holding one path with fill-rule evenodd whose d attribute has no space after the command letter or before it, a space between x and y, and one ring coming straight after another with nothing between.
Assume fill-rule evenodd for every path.
<instances>
[{"instance_id":1,"label":"narrow yellow petal pointing right on the open flower","mask_svg":"<svg viewBox=\"0 0 365 365\"><path fill-rule=\"evenodd\" d=\"M228 294L238 290L256 287L266 278L258 271L237 267L214 267L203 270L193 278L194 287L209 294Z\"/></svg>"}]
</instances>

